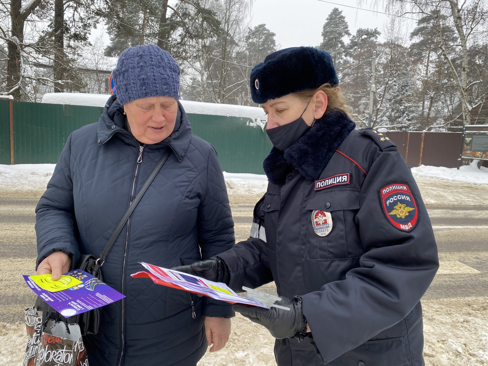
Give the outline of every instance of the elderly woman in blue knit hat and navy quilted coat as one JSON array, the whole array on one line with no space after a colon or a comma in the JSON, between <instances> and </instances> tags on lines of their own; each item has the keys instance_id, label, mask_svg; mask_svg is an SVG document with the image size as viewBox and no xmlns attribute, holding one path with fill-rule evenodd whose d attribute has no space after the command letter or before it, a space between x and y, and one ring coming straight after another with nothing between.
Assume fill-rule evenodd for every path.
<instances>
[{"instance_id":1,"label":"elderly woman in blue knit hat and navy quilted coat","mask_svg":"<svg viewBox=\"0 0 488 366\"><path fill-rule=\"evenodd\" d=\"M36 208L37 273L57 279L81 254L99 256L169 149L102 266L104 282L126 297L102 308L98 334L84 342L90 365L196 365L207 346L227 342L230 305L130 274L139 262L173 267L233 246L222 169L212 145L191 133L180 68L166 51L128 48L113 77L117 94L98 123L68 137Z\"/></svg>"}]
</instances>

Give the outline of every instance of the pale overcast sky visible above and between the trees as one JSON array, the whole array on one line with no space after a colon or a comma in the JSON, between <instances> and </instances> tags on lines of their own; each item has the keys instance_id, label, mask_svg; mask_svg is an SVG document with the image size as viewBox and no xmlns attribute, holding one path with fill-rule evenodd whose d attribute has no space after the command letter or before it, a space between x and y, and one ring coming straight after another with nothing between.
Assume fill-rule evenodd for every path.
<instances>
[{"instance_id":1,"label":"pale overcast sky visible above and between the trees","mask_svg":"<svg viewBox=\"0 0 488 366\"><path fill-rule=\"evenodd\" d=\"M338 7L346 17L351 34L354 34L358 28L378 28L383 33L389 17L364 10L383 12L382 6L374 8L369 0L361 6L363 9L353 9L344 5L358 7L357 0L332 0L332 2L341 5L319 0L255 0L251 10L251 26L266 24L268 29L276 33L276 42L281 48L317 46L322 41L322 26L325 19L334 7ZM381 4L381 0L379 3ZM108 44L110 40L103 31L103 24L99 24L97 28L93 30L90 40L93 41L104 33L103 41Z\"/></svg>"}]
</instances>

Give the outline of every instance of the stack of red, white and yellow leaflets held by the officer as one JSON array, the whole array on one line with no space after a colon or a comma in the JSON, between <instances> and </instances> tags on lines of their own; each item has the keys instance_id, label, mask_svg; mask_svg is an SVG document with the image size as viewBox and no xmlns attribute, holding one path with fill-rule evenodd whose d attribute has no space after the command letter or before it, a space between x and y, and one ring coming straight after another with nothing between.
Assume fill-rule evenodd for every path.
<instances>
[{"instance_id":1,"label":"stack of red, white and yellow leaflets held by the officer","mask_svg":"<svg viewBox=\"0 0 488 366\"><path fill-rule=\"evenodd\" d=\"M268 306L252 299L247 299L237 295L227 285L220 282L212 282L201 277L193 276L188 273L175 271L156 265L140 262L149 272L141 271L131 274L135 278L150 278L155 284L176 288L183 291L210 297L215 300L224 301L230 304L246 304L264 307Z\"/></svg>"}]
</instances>

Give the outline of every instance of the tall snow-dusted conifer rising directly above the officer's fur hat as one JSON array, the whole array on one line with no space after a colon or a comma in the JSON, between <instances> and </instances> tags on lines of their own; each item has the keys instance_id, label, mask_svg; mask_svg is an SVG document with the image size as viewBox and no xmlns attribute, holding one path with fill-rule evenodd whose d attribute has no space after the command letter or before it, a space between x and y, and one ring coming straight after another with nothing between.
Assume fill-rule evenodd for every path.
<instances>
[{"instance_id":1,"label":"tall snow-dusted conifer rising directly above the officer's fur hat","mask_svg":"<svg viewBox=\"0 0 488 366\"><path fill-rule=\"evenodd\" d=\"M342 10L334 8L325 20L322 28L322 43L318 48L330 53L336 66L342 64L346 57L346 44L344 43L346 36L351 36L346 17L342 15Z\"/></svg>"}]
</instances>

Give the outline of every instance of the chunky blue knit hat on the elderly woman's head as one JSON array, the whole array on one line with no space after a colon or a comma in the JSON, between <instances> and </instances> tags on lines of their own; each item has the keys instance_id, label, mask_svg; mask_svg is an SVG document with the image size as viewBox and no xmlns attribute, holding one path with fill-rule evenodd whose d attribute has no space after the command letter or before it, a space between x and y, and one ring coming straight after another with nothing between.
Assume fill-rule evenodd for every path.
<instances>
[{"instance_id":1,"label":"chunky blue knit hat on the elderly woman's head","mask_svg":"<svg viewBox=\"0 0 488 366\"><path fill-rule=\"evenodd\" d=\"M121 104L147 97L180 99L180 66L153 44L127 48L112 74Z\"/></svg>"}]
</instances>

